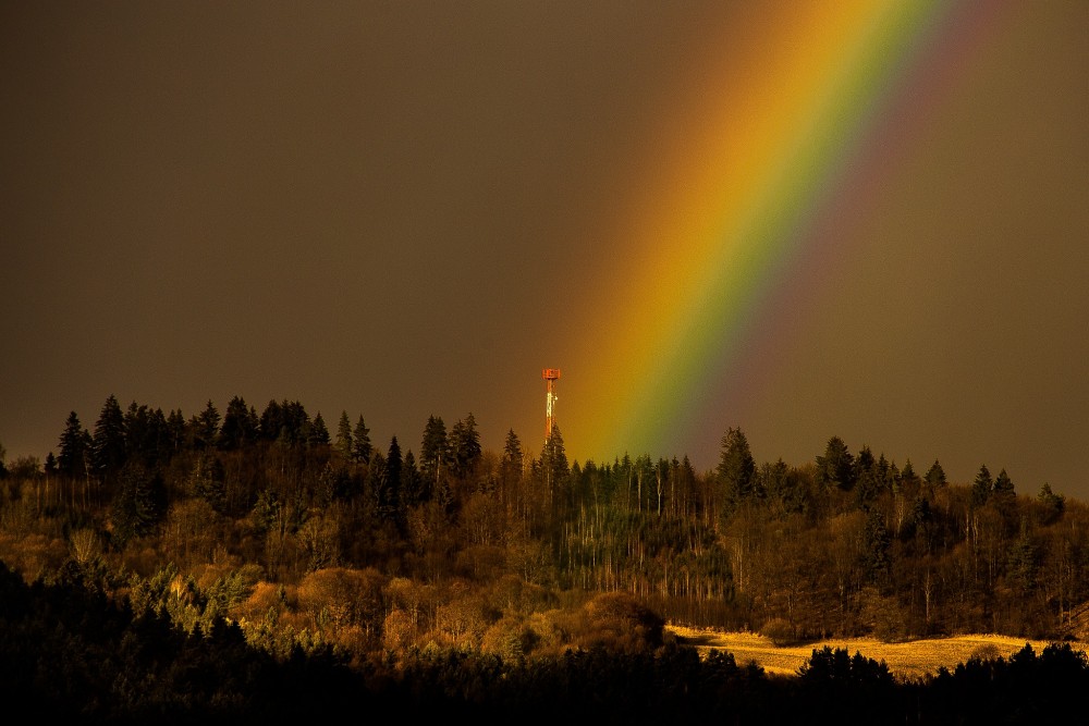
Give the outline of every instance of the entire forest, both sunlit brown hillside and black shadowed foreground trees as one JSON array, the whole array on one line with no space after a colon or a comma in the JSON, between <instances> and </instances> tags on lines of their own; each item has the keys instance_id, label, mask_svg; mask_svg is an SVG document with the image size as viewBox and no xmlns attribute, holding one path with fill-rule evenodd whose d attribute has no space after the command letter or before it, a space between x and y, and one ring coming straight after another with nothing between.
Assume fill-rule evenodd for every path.
<instances>
[{"instance_id":1,"label":"entire forest, both sunlit brown hillside and black shadowed foreground trees","mask_svg":"<svg viewBox=\"0 0 1089 726\"><path fill-rule=\"evenodd\" d=\"M834 435L758 464L739 428L709 471L570 462L559 427L486 451L472 413L430 416L415 451L362 415L332 428L297 401L186 417L110 395L44 462L0 447L3 688L114 722L380 703L787 718L849 689L873 723L1016 723L1089 686L1063 644L1086 638L1089 510L1001 468L952 482ZM700 660L666 623L1054 645L913 684L815 649L782 679Z\"/></svg>"}]
</instances>

